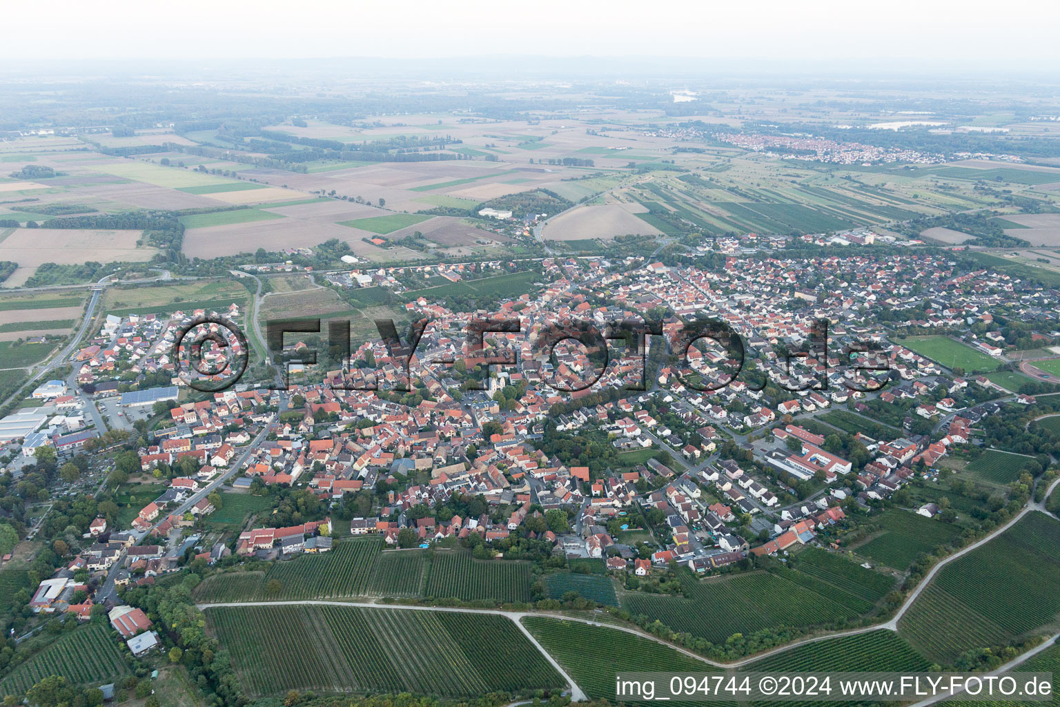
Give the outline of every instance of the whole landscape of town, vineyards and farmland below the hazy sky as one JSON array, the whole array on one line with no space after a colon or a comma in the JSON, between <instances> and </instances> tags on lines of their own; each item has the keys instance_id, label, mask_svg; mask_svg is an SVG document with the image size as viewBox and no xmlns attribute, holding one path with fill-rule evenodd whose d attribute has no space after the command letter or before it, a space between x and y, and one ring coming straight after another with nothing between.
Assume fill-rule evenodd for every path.
<instances>
[{"instance_id":1,"label":"whole landscape of town, vineyards and farmland below the hazy sky","mask_svg":"<svg viewBox=\"0 0 1060 707\"><path fill-rule=\"evenodd\" d=\"M1048 87L278 71L0 81L4 707L1060 674Z\"/></svg>"}]
</instances>

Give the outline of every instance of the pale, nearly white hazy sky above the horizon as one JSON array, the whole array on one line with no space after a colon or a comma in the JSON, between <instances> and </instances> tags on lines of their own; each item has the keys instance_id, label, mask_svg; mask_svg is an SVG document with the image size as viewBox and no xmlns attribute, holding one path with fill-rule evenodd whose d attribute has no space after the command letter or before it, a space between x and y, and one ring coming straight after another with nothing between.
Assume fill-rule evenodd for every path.
<instances>
[{"instance_id":1,"label":"pale, nearly white hazy sky above the horizon","mask_svg":"<svg viewBox=\"0 0 1060 707\"><path fill-rule=\"evenodd\" d=\"M7 3L3 21L4 59L535 54L1060 68L1055 0L53 0Z\"/></svg>"}]
</instances>

